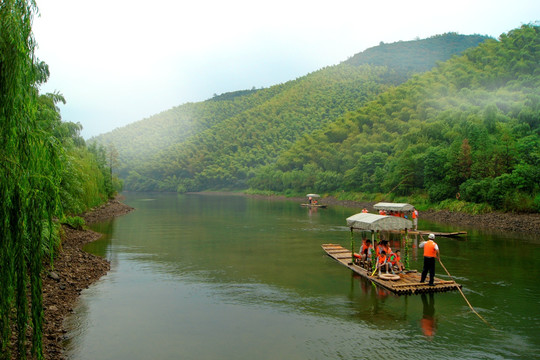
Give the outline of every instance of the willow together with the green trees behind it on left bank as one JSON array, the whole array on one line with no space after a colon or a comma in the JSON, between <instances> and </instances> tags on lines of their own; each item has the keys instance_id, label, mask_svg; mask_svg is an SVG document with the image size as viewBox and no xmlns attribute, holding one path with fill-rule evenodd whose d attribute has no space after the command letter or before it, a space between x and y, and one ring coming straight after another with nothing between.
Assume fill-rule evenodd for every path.
<instances>
[{"instance_id":1,"label":"willow together with the green trees behind it on left bank","mask_svg":"<svg viewBox=\"0 0 540 360\"><path fill-rule=\"evenodd\" d=\"M39 93L49 69L34 54L36 13L34 1L0 4L2 359L25 359L28 348L43 358L41 275L61 244L60 224L107 201L119 185L107 150L87 147L81 125L62 121L57 104L63 96Z\"/></svg>"}]
</instances>

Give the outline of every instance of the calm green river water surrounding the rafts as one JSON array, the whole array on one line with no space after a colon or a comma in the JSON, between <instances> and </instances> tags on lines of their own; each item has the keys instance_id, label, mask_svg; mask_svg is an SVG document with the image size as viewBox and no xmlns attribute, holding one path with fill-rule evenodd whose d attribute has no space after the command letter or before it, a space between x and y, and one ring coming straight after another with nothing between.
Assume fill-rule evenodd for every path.
<instances>
[{"instance_id":1,"label":"calm green river water surrounding the rafts","mask_svg":"<svg viewBox=\"0 0 540 360\"><path fill-rule=\"evenodd\" d=\"M531 359L540 239L422 221L463 292L395 296L325 255L358 209L233 195L126 194L93 226L111 271L67 320L70 359ZM360 240L358 238L357 240ZM358 241L359 242L359 241ZM358 243L357 242L357 243ZM422 268L413 254L411 268ZM437 277L449 279L437 264Z\"/></svg>"}]
</instances>

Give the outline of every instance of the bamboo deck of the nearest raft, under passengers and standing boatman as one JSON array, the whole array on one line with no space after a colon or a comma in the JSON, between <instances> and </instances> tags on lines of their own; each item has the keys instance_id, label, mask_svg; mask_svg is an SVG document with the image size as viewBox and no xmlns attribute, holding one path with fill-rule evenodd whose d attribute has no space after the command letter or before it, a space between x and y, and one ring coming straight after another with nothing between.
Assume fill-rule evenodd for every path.
<instances>
[{"instance_id":1,"label":"bamboo deck of the nearest raft, under passengers and standing boatman","mask_svg":"<svg viewBox=\"0 0 540 360\"><path fill-rule=\"evenodd\" d=\"M461 285L455 281L442 280L435 277L435 285L430 286L427 283L420 282L421 274L416 270L398 274L399 280L383 280L377 274L371 276L366 269L352 262L351 251L338 244L323 244L322 248L328 256L335 259L342 265L348 267L356 274L371 280L375 284L388 289L398 295L433 293L454 291L461 288ZM428 275L429 278L429 275Z\"/></svg>"}]
</instances>

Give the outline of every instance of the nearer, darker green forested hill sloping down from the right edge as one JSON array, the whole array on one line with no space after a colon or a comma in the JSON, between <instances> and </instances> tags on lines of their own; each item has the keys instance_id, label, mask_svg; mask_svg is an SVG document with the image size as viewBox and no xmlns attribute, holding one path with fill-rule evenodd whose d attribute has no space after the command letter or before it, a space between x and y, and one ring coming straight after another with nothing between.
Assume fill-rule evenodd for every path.
<instances>
[{"instance_id":1,"label":"nearer, darker green forested hill sloping down from the right edge","mask_svg":"<svg viewBox=\"0 0 540 360\"><path fill-rule=\"evenodd\" d=\"M538 212L538 64L538 26L488 40L303 137L250 185Z\"/></svg>"}]
</instances>

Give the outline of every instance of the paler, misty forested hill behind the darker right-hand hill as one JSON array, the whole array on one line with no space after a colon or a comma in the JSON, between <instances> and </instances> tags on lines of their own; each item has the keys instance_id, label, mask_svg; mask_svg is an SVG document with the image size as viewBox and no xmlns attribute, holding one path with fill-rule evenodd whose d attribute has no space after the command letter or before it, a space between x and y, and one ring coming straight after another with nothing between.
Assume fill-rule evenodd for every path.
<instances>
[{"instance_id":1,"label":"paler, misty forested hill behind the darker right-hand hill","mask_svg":"<svg viewBox=\"0 0 540 360\"><path fill-rule=\"evenodd\" d=\"M484 40L445 34L400 43L414 47L412 52L385 44L385 56L369 55L369 64L352 63L361 58L356 55L285 84L184 104L91 141L114 144L129 190L244 187L257 167L275 161L301 136ZM408 65L387 66L388 58Z\"/></svg>"}]
</instances>

